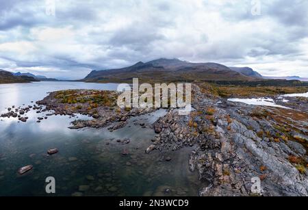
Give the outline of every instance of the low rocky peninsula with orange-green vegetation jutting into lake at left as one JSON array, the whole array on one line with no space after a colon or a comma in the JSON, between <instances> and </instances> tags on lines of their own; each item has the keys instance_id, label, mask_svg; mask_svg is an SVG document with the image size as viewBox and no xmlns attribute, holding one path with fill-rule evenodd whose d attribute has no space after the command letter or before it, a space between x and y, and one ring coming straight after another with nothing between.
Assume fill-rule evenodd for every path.
<instances>
[{"instance_id":1,"label":"low rocky peninsula with orange-green vegetation jutting into lake at left","mask_svg":"<svg viewBox=\"0 0 308 210\"><path fill-rule=\"evenodd\" d=\"M73 103L63 103L63 96L59 97L60 94L64 94L64 97L75 95L78 99L77 101L73 101ZM106 96L108 101L105 104L97 103L100 100L97 99L99 96ZM117 92L114 91L69 90L68 92L52 92L49 96L37 103L38 105L46 106L48 111L54 111L55 115L84 114L94 118L93 120L75 120L72 122L73 126L69 127L70 129L81 129L84 127L100 128L118 122L118 124L110 128L110 131L114 131L125 127L127 119L133 116L155 111L155 109L151 108L119 109L116 106L117 96Z\"/></svg>"}]
</instances>

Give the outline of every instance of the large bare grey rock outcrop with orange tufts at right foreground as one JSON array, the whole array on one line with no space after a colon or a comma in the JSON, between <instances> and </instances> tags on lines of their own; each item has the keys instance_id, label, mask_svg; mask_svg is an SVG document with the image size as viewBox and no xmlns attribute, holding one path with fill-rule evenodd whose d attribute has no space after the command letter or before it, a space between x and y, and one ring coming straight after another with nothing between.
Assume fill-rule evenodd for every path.
<instances>
[{"instance_id":1,"label":"large bare grey rock outcrop with orange tufts at right foreground","mask_svg":"<svg viewBox=\"0 0 308 210\"><path fill-rule=\"evenodd\" d=\"M198 145L189 164L209 182L201 196L251 196L255 176L264 196L308 195L307 112L218 103L194 88L196 111L160 118L148 151Z\"/></svg>"}]
</instances>

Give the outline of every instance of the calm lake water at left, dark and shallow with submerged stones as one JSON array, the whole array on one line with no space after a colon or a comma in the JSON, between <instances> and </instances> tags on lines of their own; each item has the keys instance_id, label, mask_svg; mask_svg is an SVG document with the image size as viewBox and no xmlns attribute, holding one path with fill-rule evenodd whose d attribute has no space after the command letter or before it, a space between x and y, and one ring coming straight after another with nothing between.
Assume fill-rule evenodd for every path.
<instances>
[{"instance_id":1,"label":"calm lake water at left, dark and shallow with submerged stones","mask_svg":"<svg viewBox=\"0 0 308 210\"><path fill-rule=\"evenodd\" d=\"M116 90L116 84L81 82L40 82L0 85L0 111L15 105L23 106L38 101L47 92L65 89ZM86 185L83 195L99 196L197 196L203 185L198 174L188 170L188 153L193 148L177 152L153 153L144 150L155 136L151 124L164 116L160 109L153 114L131 118L127 127L114 132L104 129L85 128L70 130L70 122L88 119L77 115L49 116L36 122L38 116L31 110L27 122L16 118L0 118L0 196L49 196L45 193L45 179L55 177L57 196L79 194L80 185ZM144 122L146 128L140 127ZM116 140L131 140L129 144ZM49 148L60 152L47 156ZM121 155L123 150L129 155ZM164 161L166 156L171 161ZM18 175L22 166L34 169ZM165 189L170 194L164 194Z\"/></svg>"}]
</instances>

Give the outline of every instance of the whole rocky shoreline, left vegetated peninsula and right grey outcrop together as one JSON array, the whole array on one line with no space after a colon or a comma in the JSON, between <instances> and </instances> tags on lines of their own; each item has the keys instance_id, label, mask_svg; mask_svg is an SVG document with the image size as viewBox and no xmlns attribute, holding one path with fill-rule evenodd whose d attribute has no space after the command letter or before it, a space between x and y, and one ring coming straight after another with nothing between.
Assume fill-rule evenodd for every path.
<instances>
[{"instance_id":1,"label":"whole rocky shoreline, left vegetated peninsula and right grey outcrop together","mask_svg":"<svg viewBox=\"0 0 308 210\"><path fill-rule=\"evenodd\" d=\"M192 96L194 111L189 116L168 109L154 122L157 135L144 148L146 154L196 148L188 154L188 164L208 183L200 196L255 196L253 177L261 180L263 196L308 196L307 99L290 98L287 105L292 109L281 109L209 97L198 86L193 86ZM70 129L109 126L112 132L126 127L133 116L155 111L118 109L116 97L116 92L99 90L51 92L37 105L12 107L1 116L21 120L30 109L49 111L46 117L85 114L93 119L75 120ZM285 105L279 99L275 102ZM171 157L166 161L172 161Z\"/></svg>"}]
</instances>

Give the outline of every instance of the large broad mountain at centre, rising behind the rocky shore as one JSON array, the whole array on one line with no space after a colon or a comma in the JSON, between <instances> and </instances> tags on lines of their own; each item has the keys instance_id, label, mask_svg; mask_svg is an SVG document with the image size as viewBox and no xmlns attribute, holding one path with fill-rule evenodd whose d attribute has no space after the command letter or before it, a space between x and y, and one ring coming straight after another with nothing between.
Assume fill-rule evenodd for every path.
<instances>
[{"instance_id":1,"label":"large broad mountain at centre, rising behind the rocky shore","mask_svg":"<svg viewBox=\"0 0 308 210\"><path fill-rule=\"evenodd\" d=\"M151 62L138 62L126 68L93 70L81 81L88 82L131 82L140 81L251 81L248 77L227 66L216 63L190 63L178 59L159 59Z\"/></svg>"}]
</instances>

